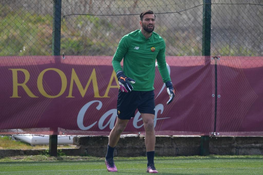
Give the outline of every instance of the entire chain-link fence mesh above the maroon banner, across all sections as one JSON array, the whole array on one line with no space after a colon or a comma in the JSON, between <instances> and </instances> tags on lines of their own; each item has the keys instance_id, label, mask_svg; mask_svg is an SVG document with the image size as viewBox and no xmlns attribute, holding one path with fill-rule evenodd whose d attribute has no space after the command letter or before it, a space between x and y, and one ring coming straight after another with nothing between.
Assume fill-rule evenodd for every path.
<instances>
[{"instance_id":1,"label":"entire chain-link fence mesh above the maroon banner, across all sections","mask_svg":"<svg viewBox=\"0 0 263 175\"><path fill-rule=\"evenodd\" d=\"M52 55L54 1L0 1L0 56ZM113 56L122 36L156 13L166 55L202 55L203 0L62 0L61 54ZM211 1L211 55L263 56L263 1Z\"/></svg>"}]
</instances>

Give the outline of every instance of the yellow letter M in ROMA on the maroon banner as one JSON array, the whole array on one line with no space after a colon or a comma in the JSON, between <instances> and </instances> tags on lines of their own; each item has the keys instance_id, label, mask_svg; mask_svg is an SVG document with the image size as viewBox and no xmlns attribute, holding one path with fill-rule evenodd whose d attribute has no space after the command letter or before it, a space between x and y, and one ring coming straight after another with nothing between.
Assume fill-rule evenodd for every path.
<instances>
[{"instance_id":1,"label":"yellow letter M in ROMA on the maroon banner","mask_svg":"<svg viewBox=\"0 0 263 175\"><path fill-rule=\"evenodd\" d=\"M83 89L83 87L82 87L82 85L81 85L81 83L79 81L79 78L78 78L74 68L72 68L70 87L69 87L69 94L68 94L67 97L68 98L74 98L74 96L72 96L73 82L75 82L75 84L77 85L81 96L84 97L91 81L92 81L92 84L93 84L94 97L102 98L101 96L99 96L99 88L98 88L95 68L93 68L93 70L92 70L92 73L91 73L91 75L89 77L88 83L85 86L85 89Z\"/></svg>"}]
</instances>

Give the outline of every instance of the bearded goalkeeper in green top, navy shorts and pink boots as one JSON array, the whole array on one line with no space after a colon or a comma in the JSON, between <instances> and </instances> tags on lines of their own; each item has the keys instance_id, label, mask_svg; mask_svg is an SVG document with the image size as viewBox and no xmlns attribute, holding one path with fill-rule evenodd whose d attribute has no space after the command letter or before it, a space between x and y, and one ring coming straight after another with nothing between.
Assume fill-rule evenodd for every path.
<instances>
[{"instance_id":1,"label":"bearded goalkeeper in green top, navy shorts and pink boots","mask_svg":"<svg viewBox=\"0 0 263 175\"><path fill-rule=\"evenodd\" d=\"M165 61L165 42L153 32L155 14L145 10L140 14L140 30L125 35L113 56L112 65L118 77L120 89L117 99L117 121L110 132L105 164L109 172L117 172L113 152L120 134L138 109L145 129L147 155L146 172L158 173L154 166L154 77L155 60L170 96L167 104L174 98L174 88ZM120 62L123 59L123 69ZM136 83L135 83L136 82ZM132 84L132 85L131 85Z\"/></svg>"}]
</instances>

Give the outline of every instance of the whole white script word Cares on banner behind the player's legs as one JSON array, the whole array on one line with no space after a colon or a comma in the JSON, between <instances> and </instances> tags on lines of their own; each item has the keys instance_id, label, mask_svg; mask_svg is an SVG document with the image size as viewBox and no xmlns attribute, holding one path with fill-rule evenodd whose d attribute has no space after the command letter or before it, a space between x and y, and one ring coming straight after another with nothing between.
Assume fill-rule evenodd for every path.
<instances>
[{"instance_id":1,"label":"whole white script word Cares on banner behind the player's legs","mask_svg":"<svg viewBox=\"0 0 263 175\"><path fill-rule=\"evenodd\" d=\"M87 104L85 104L79 111L79 114L78 114L78 118L77 118L77 124L78 124L78 127L79 129L81 130L88 130L90 128L92 128L96 123L94 122L93 124L85 127L84 124L83 124L83 119L84 119L84 115L85 113L87 112L88 108L90 107L91 104L95 103L95 102L98 102L99 105L96 107L97 110L100 110L102 108L102 102L99 101L99 100L93 100L93 101L90 101L88 102ZM157 123L157 120L161 120L161 119L168 119L170 117L165 117L165 118L157 118L157 114L158 114L158 111L160 110L160 113L162 114L163 113L163 110L164 110L164 106L163 104L158 104L155 106L155 115L154 115L154 127L156 126L156 123ZM110 116L110 119L109 121L103 126L103 123L104 121L106 120L106 118L108 116ZM136 115L134 116L134 119L133 119L133 126L134 128L141 128L143 126L140 125L138 126L138 122L142 120L142 118L140 117L141 114L139 113L139 111L136 113ZM104 128L106 128L108 125L109 125L109 128L110 129L113 129L114 127L114 123L115 123L115 120L116 120L116 117L117 117L117 109L110 109L108 110L106 113L104 113L100 119L99 119L99 123L98 123L98 127L100 130L103 130ZM139 118L140 117L140 118Z\"/></svg>"}]
</instances>

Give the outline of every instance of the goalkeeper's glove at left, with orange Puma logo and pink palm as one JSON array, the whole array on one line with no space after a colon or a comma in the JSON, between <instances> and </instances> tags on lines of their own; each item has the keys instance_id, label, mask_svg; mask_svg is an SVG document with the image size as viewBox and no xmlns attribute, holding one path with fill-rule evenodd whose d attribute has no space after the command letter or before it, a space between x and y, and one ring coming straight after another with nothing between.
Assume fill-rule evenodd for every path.
<instances>
[{"instance_id":1,"label":"goalkeeper's glove at left, with orange Puma logo and pink palm","mask_svg":"<svg viewBox=\"0 0 263 175\"><path fill-rule=\"evenodd\" d=\"M122 92L131 92L131 90L133 89L133 87L131 86L131 83L135 83L134 79L131 79L129 77L126 77L124 75L123 71L118 71L116 73L117 77L118 77L118 81L119 81L119 85L120 85L120 90Z\"/></svg>"}]
</instances>

